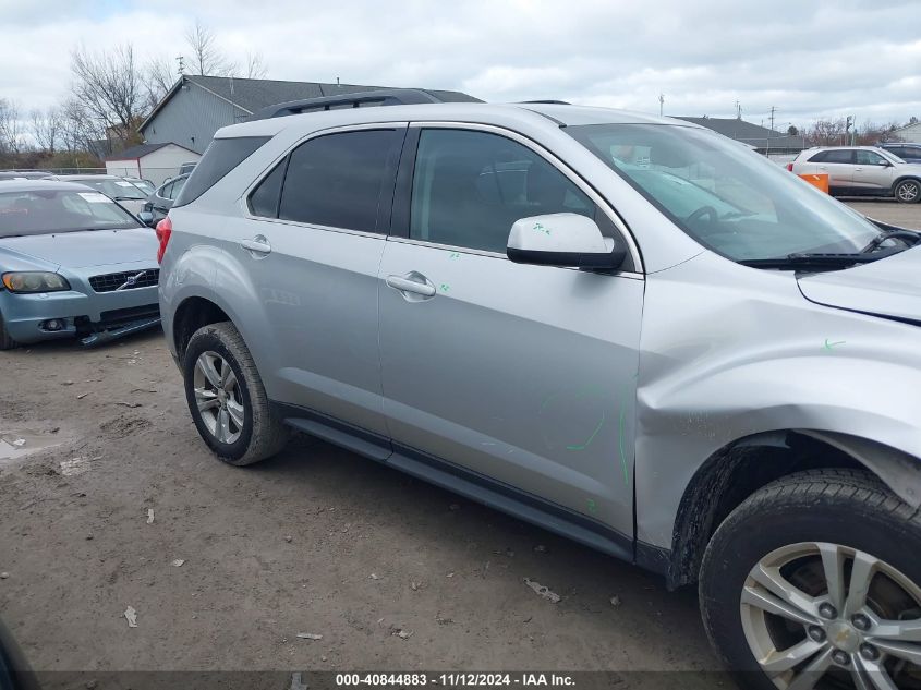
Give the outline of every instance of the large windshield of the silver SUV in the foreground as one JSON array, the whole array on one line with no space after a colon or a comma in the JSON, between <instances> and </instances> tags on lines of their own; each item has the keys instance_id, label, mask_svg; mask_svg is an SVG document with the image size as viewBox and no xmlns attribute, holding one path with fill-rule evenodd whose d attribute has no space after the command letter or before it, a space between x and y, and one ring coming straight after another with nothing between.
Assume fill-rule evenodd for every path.
<instances>
[{"instance_id":1,"label":"large windshield of the silver SUV in the foreground","mask_svg":"<svg viewBox=\"0 0 921 690\"><path fill-rule=\"evenodd\" d=\"M732 261L859 252L881 233L827 194L710 130L593 124L563 132L694 240Z\"/></svg>"}]
</instances>

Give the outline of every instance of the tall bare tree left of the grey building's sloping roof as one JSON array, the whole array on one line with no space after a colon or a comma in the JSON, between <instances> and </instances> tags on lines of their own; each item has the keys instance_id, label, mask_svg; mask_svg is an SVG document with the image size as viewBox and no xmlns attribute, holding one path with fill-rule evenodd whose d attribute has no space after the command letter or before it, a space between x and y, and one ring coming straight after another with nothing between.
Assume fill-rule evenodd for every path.
<instances>
[{"instance_id":1,"label":"tall bare tree left of the grey building's sloping roof","mask_svg":"<svg viewBox=\"0 0 921 690\"><path fill-rule=\"evenodd\" d=\"M97 53L84 47L71 53L73 96L111 138L122 145L137 138L146 94L141 68L131 45Z\"/></svg>"}]
</instances>

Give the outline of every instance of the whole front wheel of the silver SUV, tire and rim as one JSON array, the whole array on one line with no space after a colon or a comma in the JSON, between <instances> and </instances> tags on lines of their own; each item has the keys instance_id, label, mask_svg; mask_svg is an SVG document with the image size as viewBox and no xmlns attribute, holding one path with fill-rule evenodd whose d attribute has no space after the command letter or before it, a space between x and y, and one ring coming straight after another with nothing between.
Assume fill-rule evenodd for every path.
<instances>
[{"instance_id":1,"label":"whole front wheel of the silver SUV, tire and rim","mask_svg":"<svg viewBox=\"0 0 921 690\"><path fill-rule=\"evenodd\" d=\"M701 609L744 688L921 687L921 519L869 474L750 496L701 567Z\"/></svg>"}]
</instances>

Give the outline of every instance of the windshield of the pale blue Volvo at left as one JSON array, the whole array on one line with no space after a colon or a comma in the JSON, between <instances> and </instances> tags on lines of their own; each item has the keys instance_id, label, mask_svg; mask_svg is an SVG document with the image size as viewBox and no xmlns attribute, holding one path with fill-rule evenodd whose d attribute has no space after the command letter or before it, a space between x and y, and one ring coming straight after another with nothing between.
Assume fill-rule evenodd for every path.
<instances>
[{"instance_id":1,"label":"windshield of the pale blue Volvo at left","mask_svg":"<svg viewBox=\"0 0 921 690\"><path fill-rule=\"evenodd\" d=\"M140 227L134 216L99 192L0 193L0 238Z\"/></svg>"}]
</instances>

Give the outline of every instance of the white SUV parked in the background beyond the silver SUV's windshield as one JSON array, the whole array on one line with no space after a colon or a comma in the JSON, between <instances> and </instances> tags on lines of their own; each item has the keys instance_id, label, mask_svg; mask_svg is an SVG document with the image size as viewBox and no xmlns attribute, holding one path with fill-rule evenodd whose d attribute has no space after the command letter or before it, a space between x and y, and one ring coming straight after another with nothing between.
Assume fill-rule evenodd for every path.
<instances>
[{"instance_id":1,"label":"white SUV parked in the background beyond the silver SUV's windshield","mask_svg":"<svg viewBox=\"0 0 921 690\"><path fill-rule=\"evenodd\" d=\"M876 146L808 148L787 165L796 174L827 174L833 196L894 196L921 199L921 165L908 164Z\"/></svg>"}]
</instances>

